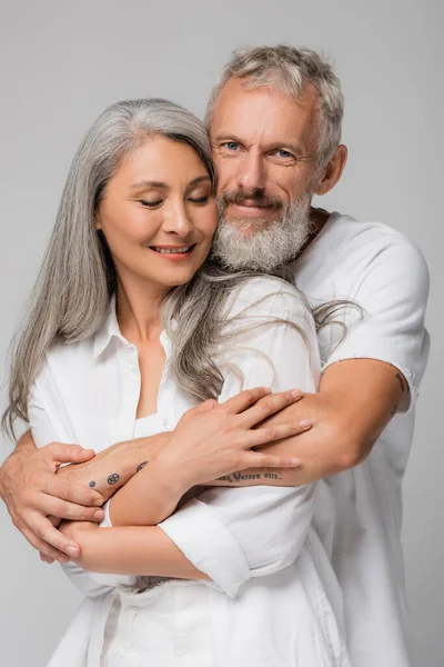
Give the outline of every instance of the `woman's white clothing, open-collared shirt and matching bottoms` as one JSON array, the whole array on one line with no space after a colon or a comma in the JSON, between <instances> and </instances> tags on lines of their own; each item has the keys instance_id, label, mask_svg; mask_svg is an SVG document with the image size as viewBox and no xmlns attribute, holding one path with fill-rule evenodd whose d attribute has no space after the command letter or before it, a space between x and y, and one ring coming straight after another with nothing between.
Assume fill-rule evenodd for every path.
<instances>
[{"instance_id":1,"label":"woman's white clothing, open-collared shirt and matching bottoms","mask_svg":"<svg viewBox=\"0 0 444 667\"><path fill-rule=\"evenodd\" d=\"M226 360L238 364L244 387L315 390L320 359L314 326L291 286L271 279L252 280L242 288L231 315L249 307L250 322L270 313L290 319L305 332L307 342L294 328L274 323L253 328L236 345L231 344ZM167 364L158 414L139 425L138 352L121 336L113 307L95 337L74 346L53 346L29 400L37 445L57 439L100 451L133 438L137 427L144 427L145 435L174 428L192 404L171 380L171 344L164 334L161 341ZM220 400L239 390L238 377L226 370ZM64 567L88 598L50 666L98 666L107 631L102 660L107 667L139 661L159 667L347 667L341 593L311 525L316 502L323 498L325 506L331 505L325 495L329 489L324 482L294 489L218 488L163 521L160 527L212 578L209 583L179 585L169 580L150 589L147 578ZM132 594L131 587L148 590ZM117 598L122 607L115 634ZM145 604L140 605L141 600ZM132 653L128 651L123 628L133 628Z\"/></svg>"}]
</instances>

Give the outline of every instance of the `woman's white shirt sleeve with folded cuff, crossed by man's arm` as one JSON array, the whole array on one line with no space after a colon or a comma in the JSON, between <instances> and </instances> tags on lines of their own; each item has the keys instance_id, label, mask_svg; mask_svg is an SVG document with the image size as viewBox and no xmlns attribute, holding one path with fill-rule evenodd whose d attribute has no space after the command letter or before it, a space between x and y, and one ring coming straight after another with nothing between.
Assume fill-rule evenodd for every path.
<instances>
[{"instance_id":1,"label":"woman's white shirt sleeve with folded cuff, crossed by man's arm","mask_svg":"<svg viewBox=\"0 0 444 667\"><path fill-rule=\"evenodd\" d=\"M243 376L225 372L221 401L242 388L270 386L273 391L315 391L320 361L312 318L291 286L263 280L269 297L246 306L250 329L230 346L230 362ZM258 288L258 286L256 286ZM258 297L258 289L254 292ZM250 299L251 301L251 299ZM242 302L238 299L236 305ZM258 327L264 316L283 318ZM159 526L214 586L234 597L251 577L291 565L310 527L317 485L295 488L215 487L203 492Z\"/></svg>"}]
</instances>

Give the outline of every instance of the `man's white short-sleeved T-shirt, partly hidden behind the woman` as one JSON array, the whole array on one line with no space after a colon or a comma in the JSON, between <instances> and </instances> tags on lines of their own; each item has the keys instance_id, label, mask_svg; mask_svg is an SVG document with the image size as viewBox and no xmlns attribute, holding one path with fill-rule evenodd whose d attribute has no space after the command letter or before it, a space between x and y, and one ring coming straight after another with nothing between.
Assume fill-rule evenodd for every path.
<instances>
[{"instance_id":1,"label":"man's white short-sleeved T-shirt, partly hidden behind the woman","mask_svg":"<svg viewBox=\"0 0 444 667\"><path fill-rule=\"evenodd\" d=\"M297 287L313 305L346 298L364 309L363 319L347 312L347 335L330 357L341 330L321 332L324 368L342 359L379 359L398 368L410 384L407 414L393 418L365 462L327 480L335 500L334 532L331 520L320 512L315 517L343 590L353 667L407 667L401 485L428 357L427 267L394 229L333 213L294 269Z\"/></svg>"}]
</instances>

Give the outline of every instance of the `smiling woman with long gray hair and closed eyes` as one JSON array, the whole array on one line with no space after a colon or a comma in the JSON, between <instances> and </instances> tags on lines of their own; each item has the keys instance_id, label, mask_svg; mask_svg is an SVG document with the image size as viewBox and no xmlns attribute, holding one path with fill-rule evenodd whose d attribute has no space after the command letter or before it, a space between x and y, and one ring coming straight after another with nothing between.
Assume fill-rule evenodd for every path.
<instances>
[{"instance_id":1,"label":"smiling woman with long gray hair and closed eyes","mask_svg":"<svg viewBox=\"0 0 444 667\"><path fill-rule=\"evenodd\" d=\"M203 126L163 100L110 107L72 163L10 419L29 419L38 446L173 432L108 504L102 529L62 528L81 546L64 569L87 600L51 666L349 665L312 528L320 485L213 488L174 512L203 481L176 462L202 435L190 431L193 406L213 399L193 428L215 446L259 446L295 428L253 429L266 390L251 389L291 402L320 371L313 318L289 282L206 259L213 191Z\"/></svg>"}]
</instances>

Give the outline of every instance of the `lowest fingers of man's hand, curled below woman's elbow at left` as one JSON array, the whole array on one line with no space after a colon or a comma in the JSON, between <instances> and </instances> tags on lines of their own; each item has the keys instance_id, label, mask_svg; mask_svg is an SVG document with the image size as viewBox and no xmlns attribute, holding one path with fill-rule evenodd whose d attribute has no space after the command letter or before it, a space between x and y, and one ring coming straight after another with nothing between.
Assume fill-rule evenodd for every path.
<instances>
[{"instance_id":1,"label":"lowest fingers of man's hand, curled below woman's elbow at left","mask_svg":"<svg viewBox=\"0 0 444 667\"><path fill-rule=\"evenodd\" d=\"M49 519L40 514L33 514L32 519L22 532L38 551L49 558L68 563L69 558L75 558L80 555L79 545L64 537L60 530L52 526Z\"/></svg>"}]
</instances>

